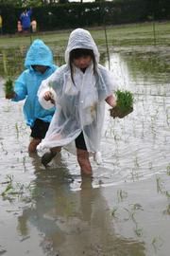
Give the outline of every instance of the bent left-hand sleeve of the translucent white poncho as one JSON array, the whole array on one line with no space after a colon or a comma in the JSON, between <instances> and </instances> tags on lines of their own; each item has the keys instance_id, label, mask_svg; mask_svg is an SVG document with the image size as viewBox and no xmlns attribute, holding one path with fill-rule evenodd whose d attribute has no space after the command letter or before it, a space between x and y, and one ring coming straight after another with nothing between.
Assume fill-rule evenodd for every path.
<instances>
[{"instance_id":1,"label":"bent left-hand sleeve of the translucent white poncho","mask_svg":"<svg viewBox=\"0 0 170 256\"><path fill-rule=\"evenodd\" d=\"M38 98L44 109L50 109L54 107L54 104L51 101L44 100L44 93L50 91L53 95L55 102L59 99L59 94L61 91L62 82L61 82L61 67L56 70L49 78L43 80L41 86L38 90Z\"/></svg>"}]
</instances>

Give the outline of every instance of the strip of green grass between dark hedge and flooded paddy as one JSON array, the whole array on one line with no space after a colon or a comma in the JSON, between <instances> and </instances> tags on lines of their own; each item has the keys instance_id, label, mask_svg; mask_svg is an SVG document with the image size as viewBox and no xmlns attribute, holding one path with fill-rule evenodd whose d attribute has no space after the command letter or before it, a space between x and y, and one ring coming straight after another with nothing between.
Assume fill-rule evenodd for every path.
<instances>
[{"instance_id":1,"label":"strip of green grass between dark hedge and flooded paddy","mask_svg":"<svg viewBox=\"0 0 170 256\"><path fill-rule=\"evenodd\" d=\"M99 45L105 45L103 27L84 27L91 31L93 39ZM170 22L155 23L156 44L170 46ZM10 35L1 37L0 49L9 47L30 46L31 40L42 39L48 46L66 47L68 37L73 29L39 32L36 35ZM154 45L153 24L131 24L107 27L110 46L143 46Z\"/></svg>"}]
</instances>

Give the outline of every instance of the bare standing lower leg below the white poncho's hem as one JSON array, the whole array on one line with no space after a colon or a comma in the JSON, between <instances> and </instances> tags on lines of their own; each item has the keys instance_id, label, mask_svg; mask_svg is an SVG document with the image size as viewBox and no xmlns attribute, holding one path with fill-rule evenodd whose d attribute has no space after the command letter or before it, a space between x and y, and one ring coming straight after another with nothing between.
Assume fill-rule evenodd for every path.
<instances>
[{"instance_id":1,"label":"bare standing lower leg below the white poncho's hem","mask_svg":"<svg viewBox=\"0 0 170 256\"><path fill-rule=\"evenodd\" d=\"M92 174L92 166L89 160L89 153L86 150L76 149L76 154L82 174Z\"/></svg>"}]
</instances>

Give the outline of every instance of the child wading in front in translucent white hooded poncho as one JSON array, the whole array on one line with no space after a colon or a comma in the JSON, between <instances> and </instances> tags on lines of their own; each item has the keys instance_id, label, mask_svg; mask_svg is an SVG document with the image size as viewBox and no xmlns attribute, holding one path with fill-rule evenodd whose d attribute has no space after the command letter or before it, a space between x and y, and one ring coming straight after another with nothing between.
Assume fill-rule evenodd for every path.
<instances>
[{"instance_id":1,"label":"child wading in front in translucent white hooded poncho","mask_svg":"<svg viewBox=\"0 0 170 256\"><path fill-rule=\"evenodd\" d=\"M42 82L38 96L42 106L49 109L54 100L57 111L38 152L42 164L48 162L75 140L77 161L83 174L92 174L89 155L100 150L105 101L116 105L112 96L113 81L109 71L98 64L99 52L89 31L77 28L69 38L65 62Z\"/></svg>"}]
</instances>

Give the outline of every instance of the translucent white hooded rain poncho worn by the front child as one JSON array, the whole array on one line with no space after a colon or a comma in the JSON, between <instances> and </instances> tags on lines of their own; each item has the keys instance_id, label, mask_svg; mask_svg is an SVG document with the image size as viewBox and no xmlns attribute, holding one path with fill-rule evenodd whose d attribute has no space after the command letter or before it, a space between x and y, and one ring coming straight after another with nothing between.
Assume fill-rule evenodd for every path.
<instances>
[{"instance_id":1,"label":"translucent white hooded rain poncho worn by the front child","mask_svg":"<svg viewBox=\"0 0 170 256\"><path fill-rule=\"evenodd\" d=\"M85 73L74 66L74 82L71 79L69 54L73 49L92 49L97 63L97 76L93 75L93 63ZM57 111L38 152L49 148L66 146L83 132L89 153L100 150L101 131L104 121L105 99L112 94L113 81L109 71L98 64L99 52L89 31L77 28L69 38L65 51L65 62L52 76L42 82L38 96L42 106L52 107L44 101L45 91L51 90L57 104ZM52 87L52 89L51 89Z\"/></svg>"}]
</instances>

